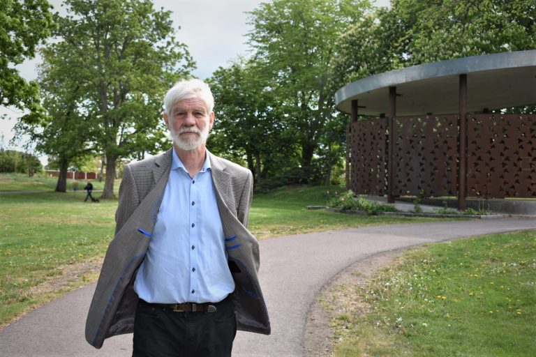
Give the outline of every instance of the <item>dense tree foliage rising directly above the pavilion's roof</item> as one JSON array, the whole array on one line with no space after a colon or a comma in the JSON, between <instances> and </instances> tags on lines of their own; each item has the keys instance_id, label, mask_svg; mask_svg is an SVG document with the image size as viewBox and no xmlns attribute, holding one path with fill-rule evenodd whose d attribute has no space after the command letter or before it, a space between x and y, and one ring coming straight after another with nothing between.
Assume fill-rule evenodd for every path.
<instances>
[{"instance_id":1,"label":"dense tree foliage rising directly above the pavilion's roof","mask_svg":"<svg viewBox=\"0 0 536 357\"><path fill-rule=\"evenodd\" d=\"M536 48L533 0L392 0L338 40L346 83L387 70Z\"/></svg>"}]
</instances>

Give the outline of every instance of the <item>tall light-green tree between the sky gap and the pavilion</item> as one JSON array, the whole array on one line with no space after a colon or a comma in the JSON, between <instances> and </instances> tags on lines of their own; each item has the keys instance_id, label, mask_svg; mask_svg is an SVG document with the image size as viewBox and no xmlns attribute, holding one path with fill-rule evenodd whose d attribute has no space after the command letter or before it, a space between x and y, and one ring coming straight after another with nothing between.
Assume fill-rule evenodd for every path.
<instances>
[{"instance_id":1,"label":"tall light-green tree between the sky gap and the pavilion","mask_svg":"<svg viewBox=\"0 0 536 357\"><path fill-rule=\"evenodd\" d=\"M369 8L358 0L274 0L250 13L256 77L272 89L280 120L299 144L304 181L311 179L326 123L336 117L329 78L335 40Z\"/></svg>"}]
</instances>

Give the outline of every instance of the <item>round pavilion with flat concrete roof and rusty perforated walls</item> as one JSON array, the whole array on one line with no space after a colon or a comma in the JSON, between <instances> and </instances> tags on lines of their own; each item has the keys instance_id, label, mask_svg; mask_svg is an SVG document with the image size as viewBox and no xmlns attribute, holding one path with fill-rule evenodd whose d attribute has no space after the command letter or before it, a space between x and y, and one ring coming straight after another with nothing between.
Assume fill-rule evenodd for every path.
<instances>
[{"instance_id":1,"label":"round pavilion with flat concrete roof and rusty perforated walls","mask_svg":"<svg viewBox=\"0 0 536 357\"><path fill-rule=\"evenodd\" d=\"M395 197L536 199L536 50L426 63L347 84L346 186ZM358 120L368 116L367 120Z\"/></svg>"}]
</instances>

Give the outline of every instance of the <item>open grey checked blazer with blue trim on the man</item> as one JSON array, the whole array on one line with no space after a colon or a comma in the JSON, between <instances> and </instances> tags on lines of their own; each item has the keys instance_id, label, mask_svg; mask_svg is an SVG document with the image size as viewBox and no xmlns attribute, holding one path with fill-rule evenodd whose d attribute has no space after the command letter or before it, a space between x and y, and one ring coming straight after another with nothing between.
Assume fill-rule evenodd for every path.
<instances>
[{"instance_id":1,"label":"open grey checked blazer with blue trim on the man","mask_svg":"<svg viewBox=\"0 0 536 357\"><path fill-rule=\"evenodd\" d=\"M172 150L127 165L119 188L115 236L106 252L86 321L86 340L101 348L105 338L132 333L138 297L133 289L168 182ZM221 216L238 329L269 335L270 322L260 290L258 241L246 228L253 193L248 169L209 154Z\"/></svg>"}]
</instances>

